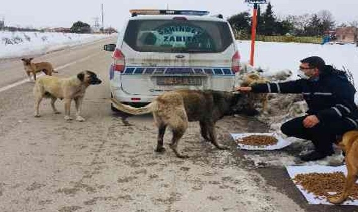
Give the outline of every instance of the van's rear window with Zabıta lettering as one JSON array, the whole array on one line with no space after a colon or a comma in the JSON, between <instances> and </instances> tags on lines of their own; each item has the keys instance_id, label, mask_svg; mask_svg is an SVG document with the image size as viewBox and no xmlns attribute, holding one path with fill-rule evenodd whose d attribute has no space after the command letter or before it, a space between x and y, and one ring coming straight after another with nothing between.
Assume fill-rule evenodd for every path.
<instances>
[{"instance_id":1,"label":"van's rear window with Zab\u0131ta lettering","mask_svg":"<svg viewBox=\"0 0 358 212\"><path fill-rule=\"evenodd\" d=\"M226 22L131 20L124 41L140 52L222 52L233 43Z\"/></svg>"}]
</instances>

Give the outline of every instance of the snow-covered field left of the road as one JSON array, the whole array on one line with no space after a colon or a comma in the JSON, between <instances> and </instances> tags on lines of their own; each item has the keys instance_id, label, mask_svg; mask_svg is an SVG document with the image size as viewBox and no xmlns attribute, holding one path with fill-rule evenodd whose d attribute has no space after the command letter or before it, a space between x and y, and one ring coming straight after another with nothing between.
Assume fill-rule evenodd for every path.
<instances>
[{"instance_id":1,"label":"snow-covered field left of the road","mask_svg":"<svg viewBox=\"0 0 358 212\"><path fill-rule=\"evenodd\" d=\"M45 54L109 36L111 35L0 31L0 59Z\"/></svg>"}]
</instances>

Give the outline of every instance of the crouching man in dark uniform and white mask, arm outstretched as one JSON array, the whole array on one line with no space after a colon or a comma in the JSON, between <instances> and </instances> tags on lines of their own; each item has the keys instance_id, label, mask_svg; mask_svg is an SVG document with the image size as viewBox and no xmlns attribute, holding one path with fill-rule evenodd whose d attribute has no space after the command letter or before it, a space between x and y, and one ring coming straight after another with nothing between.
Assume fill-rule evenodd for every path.
<instances>
[{"instance_id":1,"label":"crouching man in dark uniform and white mask, arm outstretched","mask_svg":"<svg viewBox=\"0 0 358 212\"><path fill-rule=\"evenodd\" d=\"M345 72L326 65L318 56L302 59L301 79L238 87L241 92L302 93L308 105L305 116L285 122L281 131L289 137L312 141L315 150L299 156L302 161L315 161L334 153L336 137L358 128L356 92Z\"/></svg>"}]
</instances>

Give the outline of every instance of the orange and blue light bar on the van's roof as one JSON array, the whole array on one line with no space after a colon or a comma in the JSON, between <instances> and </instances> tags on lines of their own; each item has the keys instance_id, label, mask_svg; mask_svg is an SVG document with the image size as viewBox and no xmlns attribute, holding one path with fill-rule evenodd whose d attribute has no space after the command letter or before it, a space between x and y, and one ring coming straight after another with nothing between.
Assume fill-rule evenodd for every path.
<instances>
[{"instance_id":1,"label":"orange and blue light bar on the van's roof","mask_svg":"<svg viewBox=\"0 0 358 212\"><path fill-rule=\"evenodd\" d=\"M205 16L209 11L200 10L130 10L132 16L135 15L189 15L189 16Z\"/></svg>"}]
</instances>

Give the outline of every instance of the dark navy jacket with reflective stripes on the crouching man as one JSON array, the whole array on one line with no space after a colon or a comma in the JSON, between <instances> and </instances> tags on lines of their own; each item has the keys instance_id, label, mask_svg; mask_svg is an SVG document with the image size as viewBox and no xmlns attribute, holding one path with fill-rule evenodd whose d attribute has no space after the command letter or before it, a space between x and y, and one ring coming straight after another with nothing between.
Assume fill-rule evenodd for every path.
<instances>
[{"instance_id":1,"label":"dark navy jacket with reflective stripes on the crouching man","mask_svg":"<svg viewBox=\"0 0 358 212\"><path fill-rule=\"evenodd\" d=\"M319 120L348 119L358 128L358 108L354 102L356 92L346 74L325 66L318 80L299 79L282 83L257 84L254 93L302 93L308 105L307 114Z\"/></svg>"}]
</instances>

